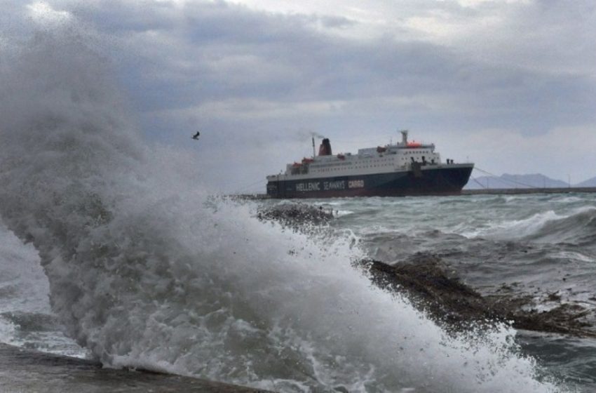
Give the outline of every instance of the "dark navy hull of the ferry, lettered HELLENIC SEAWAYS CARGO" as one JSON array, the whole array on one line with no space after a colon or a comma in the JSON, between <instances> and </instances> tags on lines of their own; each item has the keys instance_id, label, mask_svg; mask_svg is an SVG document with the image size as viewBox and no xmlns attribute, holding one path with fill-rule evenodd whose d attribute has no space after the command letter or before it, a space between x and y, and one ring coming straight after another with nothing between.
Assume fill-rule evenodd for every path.
<instances>
[{"instance_id":1,"label":"dark navy hull of the ferry, lettered HELLENIC SEAWAYS CARGO","mask_svg":"<svg viewBox=\"0 0 596 393\"><path fill-rule=\"evenodd\" d=\"M473 164L414 168L409 171L344 175L330 178L269 179L271 198L341 196L457 195L468 182Z\"/></svg>"}]
</instances>

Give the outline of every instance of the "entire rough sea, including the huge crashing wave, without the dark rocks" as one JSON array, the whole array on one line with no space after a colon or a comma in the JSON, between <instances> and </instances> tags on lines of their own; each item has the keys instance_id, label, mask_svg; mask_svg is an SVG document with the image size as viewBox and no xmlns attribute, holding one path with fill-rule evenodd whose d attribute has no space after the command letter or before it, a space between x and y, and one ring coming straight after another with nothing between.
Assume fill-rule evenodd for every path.
<instances>
[{"instance_id":1,"label":"entire rough sea, including the huge crashing wave, without the dark rocks","mask_svg":"<svg viewBox=\"0 0 596 393\"><path fill-rule=\"evenodd\" d=\"M595 391L594 339L448 333L353 267L434 255L478 291L593 309L595 194L321 199L304 203L329 222L261 220L280 201L218 196L196 157L146 141L84 34L9 60L0 342L276 392Z\"/></svg>"}]
</instances>

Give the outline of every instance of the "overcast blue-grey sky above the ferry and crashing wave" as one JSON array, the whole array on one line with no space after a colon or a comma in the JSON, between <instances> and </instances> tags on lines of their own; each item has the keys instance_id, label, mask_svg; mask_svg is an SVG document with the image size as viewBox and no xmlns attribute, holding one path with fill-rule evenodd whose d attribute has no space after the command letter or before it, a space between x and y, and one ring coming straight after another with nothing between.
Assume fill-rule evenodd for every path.
<instances>
[{"instance_id":1,"label":"overcast blue-grey sky above the ferry and crashing wave","mask_svg":"<svg viewBox=\"0 0 596 393\"><path fill-rule=\"evenodd\" d=\"M2 9L0 51L40 25L76 20L93 31L145 138L191 149L205 183L224 192L264 191L266 175L312 154L312 133L355 152L403 128L443 159L496 175L596 176L593 0L4 0Z\"/></svg>"}]
</instances>

